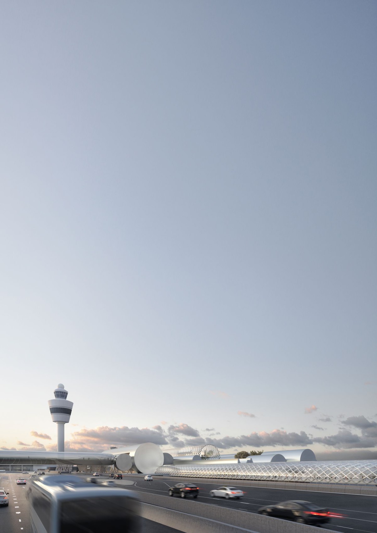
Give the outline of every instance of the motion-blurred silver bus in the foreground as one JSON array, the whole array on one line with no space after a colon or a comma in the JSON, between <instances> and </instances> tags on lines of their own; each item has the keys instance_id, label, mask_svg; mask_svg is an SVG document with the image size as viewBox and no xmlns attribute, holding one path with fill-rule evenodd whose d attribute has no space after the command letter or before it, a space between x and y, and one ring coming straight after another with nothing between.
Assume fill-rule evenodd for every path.
<instances>
[{"instance_id":1,"label":"motion-blurred silver bus in the foreground","mask_svg":"<svg viewBox=\"0 0 377 533\"><path fill-rule=\"evenodd\" d=\"M74 475L37 478L28 489L33 533L138 533L134 492L86 483Z\"/></svg>"}]
</instances>

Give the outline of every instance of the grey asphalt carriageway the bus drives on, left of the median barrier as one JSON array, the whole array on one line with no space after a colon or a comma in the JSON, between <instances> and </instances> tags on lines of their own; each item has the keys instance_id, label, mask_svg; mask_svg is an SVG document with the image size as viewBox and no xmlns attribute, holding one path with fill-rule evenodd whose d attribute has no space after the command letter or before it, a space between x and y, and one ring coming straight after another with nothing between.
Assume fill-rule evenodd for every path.
<instances>
[{"instance_id":1,"label":"grey asphalt carriageway the bus drives on, left of the median barrier","mask_svg":"<svg viewBox=\"0 0 377 533\"><path fill-rule=\"evenodd\" d=\"M47 474L48 475L48 474ZM27 484L18 485L17 478L25 477ZM9 492L9 505L0 507L1 533L31 533L29 500L26 499L29 474L0 474L0 487ZM140 533L178 533L172 529L151 520L141 519Z\"/></svg>"}]
</instances>

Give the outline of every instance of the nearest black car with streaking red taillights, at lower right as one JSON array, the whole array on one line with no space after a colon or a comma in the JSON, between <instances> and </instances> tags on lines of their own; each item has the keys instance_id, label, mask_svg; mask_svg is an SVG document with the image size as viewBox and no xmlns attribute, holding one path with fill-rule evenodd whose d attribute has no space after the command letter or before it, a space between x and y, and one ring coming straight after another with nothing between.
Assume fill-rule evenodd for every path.
<instances>
[{"instance_id":1,"label":"nearest black car with streaking red taillights, at lower right","mask_svg":"<svg viewBox=\"0 0 377 533\"><path fill-rule=\"evenodd\" d=\"M326 524L330 521L329 511L325 507L302 500L293 502L282 502L276 505L266 505L258 509L259 514L275 516L276 518L285 518L294 520L301 524Z\"/></svg>"}]
</instances>

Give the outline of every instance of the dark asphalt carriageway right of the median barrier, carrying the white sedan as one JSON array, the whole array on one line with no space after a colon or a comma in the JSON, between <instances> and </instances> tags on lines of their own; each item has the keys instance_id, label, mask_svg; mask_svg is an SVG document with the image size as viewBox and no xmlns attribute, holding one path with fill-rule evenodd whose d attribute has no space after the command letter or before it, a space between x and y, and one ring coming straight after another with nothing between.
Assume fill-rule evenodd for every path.
<instances>
[{"instance_id":1,"label":"dark asphalt carriageway right of the median barrier, carrying the white sedan","mask_svg":"<svg viewBox=\"0 0 377 533\"><path fill-rule=\"evenodd\" d=\"M107 476L103 474L102 478ZM154 494L166 495L169 487L180 480L171 480L169 477L155 477L153 481L144 481L144 476L124 474L124 484L127 480L134 481L133 485L127 485L125 488L131 490L138 490L140 492L154 492ZM190 478L181 478L183 483L189 483ZM115 481L119 486L122 485L121 480ZM246 492L244 497L239 500L226 500L225 498L212 498L210 490L228 484L230 487L238 487ZM308 492L303 490L287 490L287 489L265 489L260 487L245 487L242 486L242 481L213 483L212 480L203 479L198 483L199 496L197 503L207 503L212 505L221 505L232 509L239 509L255 513L259 507L263 505L276 504L278 502L285 502L287 500L307 500L317 505L328 507L334 514L343 516L333 516L330 522L324 526L323 529L332 529L335 531L343 531L343 533L350 533L354 530L355 533L377 533L377 497L376 496L358 496L354 494L337 494L336 492ZM177 496L173 496L177 498ZM191 499L191 498L190 498Z\"/></svg>"}]
</instances>

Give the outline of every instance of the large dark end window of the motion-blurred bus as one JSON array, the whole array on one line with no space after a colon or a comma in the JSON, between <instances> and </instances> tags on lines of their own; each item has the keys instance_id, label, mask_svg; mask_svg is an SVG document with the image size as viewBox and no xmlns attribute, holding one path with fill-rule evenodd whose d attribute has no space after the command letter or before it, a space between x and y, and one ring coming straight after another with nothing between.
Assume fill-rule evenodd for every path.
<instances>
[{"instance_id":1,"label":"large dark end window of the motion-blurred bus","mask_svg":"<svg viewBox=\"0 0 377 533\"><path fill-rule=\"evenodd\" d=\"M75 498L60 503L59 533L134 533L138 529L133 498Z\"/></svg>"}]
</instances>

